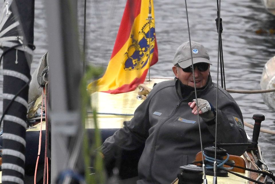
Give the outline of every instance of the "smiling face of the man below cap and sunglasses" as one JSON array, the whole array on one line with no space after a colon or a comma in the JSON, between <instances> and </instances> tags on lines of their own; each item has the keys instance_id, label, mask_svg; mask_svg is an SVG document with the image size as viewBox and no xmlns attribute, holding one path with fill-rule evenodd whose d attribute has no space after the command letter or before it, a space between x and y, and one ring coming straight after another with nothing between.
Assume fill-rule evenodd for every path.
<instances>
[{"instance_id":1,"label":"smiling face of the man below cap and sunglasses","mask_svg":"<svg viewBox=\"0 0 275 184\"><path fill-rule=\"evenodd\" d=\"M204 87L207 83L207 79L209 76L209 68L210 65L208 65L208 69L206 71L199 71L199 69L196 67L194 70L195 81L193 79L192 72L184 72L182 71L182 68L176 66L173 66L172 70L176 78L178 78L182 82L182 84L195 87L196 83L196 87L200 88Z\"/></svg>"}]
</instances>

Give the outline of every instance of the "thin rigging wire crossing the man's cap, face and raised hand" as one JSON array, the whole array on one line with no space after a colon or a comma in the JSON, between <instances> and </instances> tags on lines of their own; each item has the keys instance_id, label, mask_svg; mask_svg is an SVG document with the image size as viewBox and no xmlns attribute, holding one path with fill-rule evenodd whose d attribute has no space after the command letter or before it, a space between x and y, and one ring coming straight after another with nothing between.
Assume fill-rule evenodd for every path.
<instances>
[{"instance_id":1,"label":"thin rigging wire crossing the man's cap, face and raised hand","mask_svg":"<svg viewBox=\"0 0 275 184\"><path fill-rule=\"evenodd\" d=\"M188 20L188 12L187 12L187 3L185 0L185 10L186 10L186 19L187 19L187 28L188 28L188 37L189 37L189 46L190 46L190 55L191 55L191 62L192 62L192 73L193 73L193 80L195 81L195 73L194 73L194 64L193 64L193 55L192 55L192 47L191 47L191 38L190 38L190 28L189 28L189 20ZM197 97L197 89L196 83L194 82L195 87L195 97L196 97L196 104L198 104L198 97ZM203 153L203 143L201 139L201 126L200 126L200 116L199 116L199 108L197 108L197 115L198 115L198 123L199 123L199 133L200 133L200 142L201 142L201 152ZM202 161L203 161L203 154L202 154ZM206 173L205 173L205 164L203 161L203 183L207 183Z\"/></svg>"}]
</instances>

